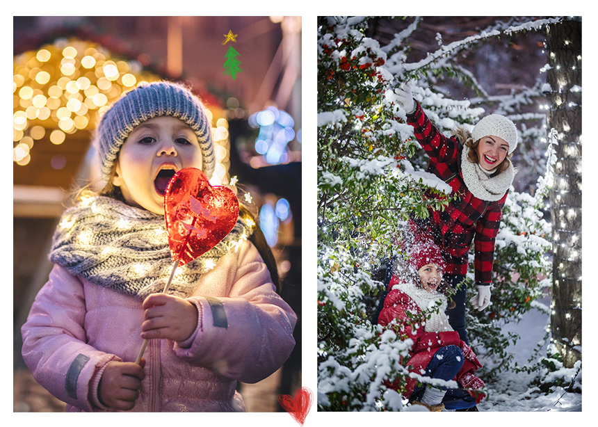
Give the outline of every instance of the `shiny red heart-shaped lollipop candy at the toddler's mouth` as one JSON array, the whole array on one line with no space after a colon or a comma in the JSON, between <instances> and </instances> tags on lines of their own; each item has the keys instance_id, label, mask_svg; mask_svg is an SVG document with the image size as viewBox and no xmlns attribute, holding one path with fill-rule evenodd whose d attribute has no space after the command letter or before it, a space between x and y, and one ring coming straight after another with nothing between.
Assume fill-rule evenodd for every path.
<instances>
[{"instance_id":1,"label":"shiny red heart-shaped lollipop candy at the toddler's mouth","mask_svg":"<svg viewBox=\"0 0 598 427\"><path fill-rule=\"evenodd\" d=\"M182 266L229 234L239 218L239 200L229 188L211 186L201 170L185 168L168 182L164 216L170 255Z\"/></svg>"}]
</instances>

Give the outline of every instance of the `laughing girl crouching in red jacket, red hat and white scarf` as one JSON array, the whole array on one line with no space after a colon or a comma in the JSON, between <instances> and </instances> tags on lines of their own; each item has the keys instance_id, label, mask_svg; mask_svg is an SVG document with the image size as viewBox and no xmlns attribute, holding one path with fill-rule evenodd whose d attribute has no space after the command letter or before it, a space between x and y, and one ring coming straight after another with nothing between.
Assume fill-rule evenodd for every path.
<instances>
[{"instance_id":1,"label":"laughing girl crouching in red jacket, red hat and white scarf","mask_svg":"<svg viewBox=\"0 0 598 427\"><path fill-rule=\"evenodd\" d=\"M427 377L422 378L422 385L407 378L403 395L433 412L476 411L483 394L475 390L483 387L484 382L474 371L481 365L444 313L452 289L442 280L444 261L440 250L430 236L417 234L407 253L407 266L396 269L400 273L391 277L389 293L378 316L380 325L413 341L410 371ZM453 383L446 387L447 381Z\"/></svg>"}]
</instances>

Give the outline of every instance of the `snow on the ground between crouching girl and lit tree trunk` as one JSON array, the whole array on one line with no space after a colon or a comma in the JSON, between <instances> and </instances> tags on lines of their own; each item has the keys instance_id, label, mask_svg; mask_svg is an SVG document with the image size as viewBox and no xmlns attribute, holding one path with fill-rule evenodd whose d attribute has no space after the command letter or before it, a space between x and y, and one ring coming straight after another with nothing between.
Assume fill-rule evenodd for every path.
<instances>
[{"instance_id":1,"label":"snow on the ground between crouching girl and lit tree trunk","mask_svg":"<svg viewBox=\"0 0 598 427\"><path fill-rule=\"evenodd\" d=\"M549 300L541 301L550 305ZM519 323L508 323L503 327L504 332L517 332L521 339L515 346L510 347L510 353L519 364L528 364L533 351L540 341L544 340L544 330L549 324L549 315L539 309L531 309L524 314ZM546 344L538 357L546 355ZM482 363L484 363L482 361ZM532 393L529 389L531 374L506 372L492 384L492 393L483 400L478 408L480 411L492 412L555 412L581 411L581 394L566 392L558 388L555 392L544 395Z\"/></svg>"}]
</instances>

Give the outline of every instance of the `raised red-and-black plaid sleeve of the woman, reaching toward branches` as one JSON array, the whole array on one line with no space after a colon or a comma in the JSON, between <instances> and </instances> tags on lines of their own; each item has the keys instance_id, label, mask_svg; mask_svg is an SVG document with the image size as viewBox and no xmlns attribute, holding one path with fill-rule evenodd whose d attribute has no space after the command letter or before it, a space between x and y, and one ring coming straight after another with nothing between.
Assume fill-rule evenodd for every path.
<instances>
[{"instance_id":1,"label":"raised red-and-black plaid sleeve of the woman, reaching toward branches","mask_svg":"<svg viewBox=\"0 0 598 427\"><path fill-rule=\"evenodd\" d=\"M419 145L430 157L430 162L444 175L448 171L442 170L442 165L452 163L459 154L458 140L446 138L444 134L440 133L426 113L423 112L419 102L416 101L416 104L414 113L407 115L407 124L413 127L413 134Z\"/></svg>"}]
</instances>

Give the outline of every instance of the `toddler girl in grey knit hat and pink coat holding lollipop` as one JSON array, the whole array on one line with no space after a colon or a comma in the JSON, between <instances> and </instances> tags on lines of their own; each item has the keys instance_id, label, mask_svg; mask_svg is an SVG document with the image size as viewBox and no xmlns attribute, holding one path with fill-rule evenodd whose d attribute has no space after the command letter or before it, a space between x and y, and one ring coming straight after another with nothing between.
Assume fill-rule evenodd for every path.
<instances>
[{"instance_id":1,"label":"toddler girl in grey knit hat and pink coat holding lollipop","mask_svg":"<svg viewBox=\"0 0 598 427\"><path fill-rule=\"evenodd\" d=\"M161 293L173 264L166 184L183 168L208 178L214 168L204 106L176 83L144 84L104 114L97 147L106 186L56 229L54 268L22 327L27 366L72 412L244 411L236 381L282 366L296 323L244 238L259 233L247 209Z\"/></svg>"}]
</instances>

